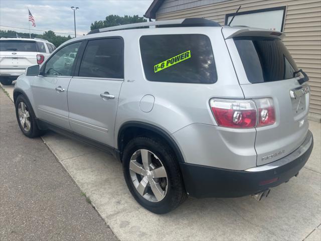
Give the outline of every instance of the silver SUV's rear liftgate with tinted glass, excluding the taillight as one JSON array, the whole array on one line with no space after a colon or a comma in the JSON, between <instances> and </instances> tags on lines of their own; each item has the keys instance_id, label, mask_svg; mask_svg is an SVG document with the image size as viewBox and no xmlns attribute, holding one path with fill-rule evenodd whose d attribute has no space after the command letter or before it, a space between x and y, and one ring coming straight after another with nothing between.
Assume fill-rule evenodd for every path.
<instances>
[{"instance_id":1,"label":"silver SUV's rear liftgate with tinted glass, excluding the taillight","mask_svg":"<svg viewBox=\"0 0 321 241\"><path fill-rule=\"evenodd\" d=\"M257 165L263 165L303 143L308 131L309 87L300 85L299 74L293 74L298 69L280 38L266 33L242 35L226 42L244 96L271 97L275 109L275 124L256 128Z\"/></svg>"}]
</instances>

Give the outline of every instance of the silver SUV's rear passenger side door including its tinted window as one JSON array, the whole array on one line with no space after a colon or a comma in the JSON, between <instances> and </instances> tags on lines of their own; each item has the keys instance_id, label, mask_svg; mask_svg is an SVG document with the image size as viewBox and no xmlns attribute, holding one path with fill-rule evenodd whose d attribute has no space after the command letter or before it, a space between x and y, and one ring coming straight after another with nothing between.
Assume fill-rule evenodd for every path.
<instances>
[{"instance_id":1,"label":"silver SUV's rear passenger side door including its tinted window","mask_svg":"<svg viewBox=\"0 0 321 241\"><path fill-rule=\"evenodd\" d=\"M68 61L73 59L69 55ZM68 88L69 122L72 131L114 146L118 96L123 83L123 40L89 40Z\"/></svg>"}]
</instances>

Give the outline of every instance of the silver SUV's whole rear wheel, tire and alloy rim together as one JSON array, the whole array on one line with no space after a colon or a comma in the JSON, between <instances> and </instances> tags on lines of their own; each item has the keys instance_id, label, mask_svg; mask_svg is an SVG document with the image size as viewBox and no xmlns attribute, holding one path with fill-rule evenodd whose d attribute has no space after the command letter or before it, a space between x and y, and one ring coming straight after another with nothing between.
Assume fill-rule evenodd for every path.
<instances>
[{"instance_id":1,"label":"silver SUV's whole rear wheel, tire and alloy rim together","mask_svg":"<svg viewBox=\"0 0 321 241\"><path fill-rule=\"evenodd\" d=\"M134 138L126 145L122 161L131 194L149 211L167 213L186 199L179 164L163 141Z\"/></svg>"}]
</instances>

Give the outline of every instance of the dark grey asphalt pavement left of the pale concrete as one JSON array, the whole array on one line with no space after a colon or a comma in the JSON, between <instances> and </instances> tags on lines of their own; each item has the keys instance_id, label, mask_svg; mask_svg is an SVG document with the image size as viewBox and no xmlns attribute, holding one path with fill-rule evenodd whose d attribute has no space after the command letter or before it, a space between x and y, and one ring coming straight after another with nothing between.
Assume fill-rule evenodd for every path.
<instances>
[{"instance_id":1,"label":"dark grey asphalt pavement left of the pale concrete","mask_svg":"<svg viewBox=\"0 0 321 241\"><path fill-rule=\"evenodd\" d=\"M22 134L1 88L0 240L117 240L44 142Z\"/></svg>"}]
</instances>

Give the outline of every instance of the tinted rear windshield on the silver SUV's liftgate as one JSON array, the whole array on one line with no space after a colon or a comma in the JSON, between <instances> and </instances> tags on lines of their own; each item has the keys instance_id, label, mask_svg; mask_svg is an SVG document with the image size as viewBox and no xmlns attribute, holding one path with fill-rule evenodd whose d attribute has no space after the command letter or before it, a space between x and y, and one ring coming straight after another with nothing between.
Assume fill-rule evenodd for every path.
<instances>
[{"instance_id":1,"label":"tinted rear windshield on the silver SUV's liftgate","mask_svg":"<svg viewBox=\"0 0 321 241\"><path fill-rule=\"evenodd\" d=\"M280 39L240 37L234 43L251 83L290 79L298 70Z\"/></svg>"}]
</instances>

